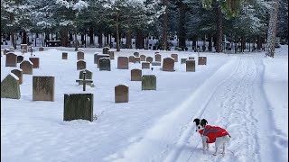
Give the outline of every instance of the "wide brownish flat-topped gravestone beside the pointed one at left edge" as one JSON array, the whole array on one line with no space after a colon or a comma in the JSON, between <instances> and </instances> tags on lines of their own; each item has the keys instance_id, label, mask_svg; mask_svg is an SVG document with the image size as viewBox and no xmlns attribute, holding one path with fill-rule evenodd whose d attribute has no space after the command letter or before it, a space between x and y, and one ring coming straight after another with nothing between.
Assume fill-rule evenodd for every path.
<instances>
[{"instance_id":1,"label":"wide brownish flat-topped gravestone beside the pointed one at left edge","mask_svg":"<svg viewBox=\"0 0 289 162\"><path fill-rule=\"evenodd\" d=\"M33 101L54 101L54 76L33 76Z\"/></svg>"}]
</instances>

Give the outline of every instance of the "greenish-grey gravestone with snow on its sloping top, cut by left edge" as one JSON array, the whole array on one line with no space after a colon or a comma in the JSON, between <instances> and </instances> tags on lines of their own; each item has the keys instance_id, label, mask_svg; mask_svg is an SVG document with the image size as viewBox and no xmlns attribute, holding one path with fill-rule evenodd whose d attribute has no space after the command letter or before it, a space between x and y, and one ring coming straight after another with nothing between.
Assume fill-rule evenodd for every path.
<instances>
[{"instance_id":1,"label":"greenish-grey gravestone with snow on its sloping top, cut by left edge","mask_svg":"<svg viewBox=\"0 0 289 162\"><path fill-rule=\"evenodd\" d=\"M20 99L20 97L19 78L10 73L1 82L1 98Z\"/></svg>"}]
</instances>

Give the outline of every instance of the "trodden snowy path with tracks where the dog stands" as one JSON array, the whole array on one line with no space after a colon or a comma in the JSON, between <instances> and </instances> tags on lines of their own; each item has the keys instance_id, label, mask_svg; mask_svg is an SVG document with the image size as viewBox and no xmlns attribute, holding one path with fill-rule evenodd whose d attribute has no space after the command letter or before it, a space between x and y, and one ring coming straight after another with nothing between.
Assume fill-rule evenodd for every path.
<instances>
[{"instance_id":1,"label":"trodden snowy path with tracks where the dog stands","mask_svg":"<svg viewBox=\"0 0 289 162\"><path fill-rule=\"evenodd\" d=\"M262 157L268 157L266 161L273 161L270 157L274 147L268 147L272 143L261 142L267 138L266 130L274 130L275 125L264 124L272 117L266 113L269 110L266 110L262 78L257 77L264 70L262 61L255 59L232 58L180 106L147 130L143 139L117 153L121 158L116 161L264 161L261 152L265 154ZM256 103L256 97L265 102ZM258 115L262 115L262 125L258 125ZM197 117L228 130L232 139L225 157L212 156L213 145L207 154L202 154L200 134L192 122Z\"/></svg>"}]
</instances>

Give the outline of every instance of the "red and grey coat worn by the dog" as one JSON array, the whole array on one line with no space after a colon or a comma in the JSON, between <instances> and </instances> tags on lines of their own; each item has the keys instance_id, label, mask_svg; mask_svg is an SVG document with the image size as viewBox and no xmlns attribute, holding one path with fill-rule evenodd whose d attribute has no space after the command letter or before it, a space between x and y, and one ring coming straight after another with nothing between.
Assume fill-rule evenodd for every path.
<instances>
[{"instance_id":1,"label":"red and grey coat worn by the dog","mask_svg":"<svg viewBox=\"0 0 289 162\"><path fill-rule=\"evenodd\" d=\"M200 135L207 136L209 140L207 143L214 143L216 138L226 136L228 132L220 127L206 125L205 129L199 130Z\"/></svg>"}]
</instances>

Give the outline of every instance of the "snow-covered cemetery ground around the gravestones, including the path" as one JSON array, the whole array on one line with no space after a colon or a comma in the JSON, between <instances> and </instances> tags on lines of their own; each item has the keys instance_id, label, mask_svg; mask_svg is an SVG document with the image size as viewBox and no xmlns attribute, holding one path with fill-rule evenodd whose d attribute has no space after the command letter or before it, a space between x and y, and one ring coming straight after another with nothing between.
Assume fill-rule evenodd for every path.
<instances>
[{"instance_id":1,"label":"snow-covered cemetery ground around the gravestones, including the path","mask_svg":"<svg viewBox=\"0 0 289 162\"><path fill-rule=\"evenodd\" d=\"M174 72L161 67L143 69L156 76L156 91L142 91L130 81L130 70L117 69L117 56L135 51L154 56L153 50L121 49L115 52L111 71L99 71L93 54L84 49L93 72L96 121L63 121L64 94L83 93L75 80L77 56L73 49L35 52L40 68L23 75L21 99L1 98L1 160L7 162L186 162L288 160L288 46L275 49L275 58L264 52L246 54L200 53L206 66L186 72L181 58L194 52L176 52ZM61 52L68 51L68 59ZM173 51L175 52L175 51ZM19 51L15 51L20 55ZM160 51L162 59L172 51ZM24 59L28 59L26 53ZM18 64L19 67L19 64ZM1 80L14 67L1 57ZM33 76L55 76L55 102L33 102ZM114 87L129 86L129 102L115 103ZM231 140L225 156L212 156L214 145L202 153L194 118L228 130ZM221 150L219 150L221 151Z\"/></svg>"}]
</instances>

